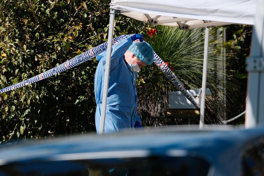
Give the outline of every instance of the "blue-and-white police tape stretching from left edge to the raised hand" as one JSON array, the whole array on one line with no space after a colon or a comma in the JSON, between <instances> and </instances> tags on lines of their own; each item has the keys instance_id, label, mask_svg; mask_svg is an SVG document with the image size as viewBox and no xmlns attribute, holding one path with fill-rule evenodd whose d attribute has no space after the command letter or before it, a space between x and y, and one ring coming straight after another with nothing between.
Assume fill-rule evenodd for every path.
<instances>
[{"instance_id":1,"label":"blue-and-white police tape stretching from left edge to the raised hand","mask_svg":"<svg viewBox=\"0 0 264 176\"><path fill-rule=\"evenodd\" d=\"M113 44L113 46L117 45L118 43L122 42L125 39L130 38L133 35L134 34L118 36L112 40L112 44ZM6 88L2 88L2 89L0 89L0 93L7 92L10 90L14 90L16 88L20 88L20 87L23 87L23 86L28 85L28 84L35 83L37 81L43 80L43 79L51 77L55 74L58 74L58 73L61 73L63 71L66 71L68 69L71 69L71 68L73 68L73 67L75 67L75 66L77 66L77 65L79 65L85 61L90 60L91 58L94 58L95 56L97 56L98 54L100 54L106 50L107 50L107 42L105 42L105 43L103 43L97 47L94 47L91 50L88 50L88 51L86 51L86 52L84 52L84 53L82 53L82 54L62 63L62 64L60 64L59 66L56 66L52 69L49 69L46 72L40 73L39 75L37 75L35 77L32 77L32 78L29 78L25 81L13 84L13 85L8 86Z\"/></svg>"}]
</instances>

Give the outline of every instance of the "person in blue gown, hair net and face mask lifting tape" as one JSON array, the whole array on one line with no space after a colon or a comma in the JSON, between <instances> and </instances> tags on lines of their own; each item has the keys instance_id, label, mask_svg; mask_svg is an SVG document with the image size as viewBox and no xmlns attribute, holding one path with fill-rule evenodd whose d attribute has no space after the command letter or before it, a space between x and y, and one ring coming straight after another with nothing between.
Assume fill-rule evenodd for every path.
<instances>
[{"instance_id":1,"label":"person in blue gown, hair net and face mask lifting tape","mask_svg":"<svg viewBox=\"0 0 264 176\"><path fill-rule=\"evenodd\" d=\"M143 66L151 65L154 59L153 48L141 37L135 34L112 47L104 133L141 126L141 118L137 113L136 78L138 71ZM136 42L137 39L140 41ZM99 61L94 82L97 133L100 130L106 54L107 51L104 51L96 56Z\"/></svg>"}]
</instances>

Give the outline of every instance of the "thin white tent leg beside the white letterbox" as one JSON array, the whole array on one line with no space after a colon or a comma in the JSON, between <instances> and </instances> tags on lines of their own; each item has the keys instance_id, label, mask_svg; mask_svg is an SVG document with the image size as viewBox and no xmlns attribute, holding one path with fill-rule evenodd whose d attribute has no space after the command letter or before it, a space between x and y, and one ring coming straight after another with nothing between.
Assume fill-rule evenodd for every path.
<instances>
[{"instance_id":1,"label":"thin white tent leg beside the white letterbox","mask_svg":"<svg viewBox=\"0 0 264 176\"><path fill-rule=\"evenodd\" d=\"M202 72L202 97L200 105L200 129L204 125L204 110L205 110L205 93L206 93L206 76L207 76L207 58L208 58L208 44L209 44L209 28L205 28L205 43L204 43L204 58L203 58L203 72Z\"/></svg>"}]
</instances>

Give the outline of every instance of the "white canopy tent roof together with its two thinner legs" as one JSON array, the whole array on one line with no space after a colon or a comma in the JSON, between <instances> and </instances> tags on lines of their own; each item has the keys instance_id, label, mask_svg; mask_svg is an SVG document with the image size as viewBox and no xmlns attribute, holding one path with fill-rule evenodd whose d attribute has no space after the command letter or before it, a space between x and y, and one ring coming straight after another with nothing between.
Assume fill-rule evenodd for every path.
<instances>
[{"instance_id":1,"label":"white canopy tent roof together with its two thinner legs","mask_svg":"<svg viewBox=\"0 0 264 176\"><path fill-rule=\"evenodd\" d=\"M177 26L183 30L206 27L202 78L200 128L203 127L209 28L227 24L255 24L257 0L112 0L110 3L109 34L113 34L115 14L123 14L151 25ZM113 35L108 35L112 41ZM109 77L111 42L107 46L105 77ZM108 79L104 82L103 107L100 134L104 130Z\"/></svg>"}]
</instances>

